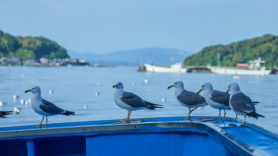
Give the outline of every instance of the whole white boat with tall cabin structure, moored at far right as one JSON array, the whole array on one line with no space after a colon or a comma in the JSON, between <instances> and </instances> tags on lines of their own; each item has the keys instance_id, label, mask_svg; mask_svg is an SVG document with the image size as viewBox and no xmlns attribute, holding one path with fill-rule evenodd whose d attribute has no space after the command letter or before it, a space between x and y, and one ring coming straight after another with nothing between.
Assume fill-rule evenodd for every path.
<instances>
[{"instance_id":1,"label":"whole white boat with tall cabin structure, moored at far right","mask_svg":"<svg viewBox=\"0 0 278 156\"><path fill-rule=\"evenodd\" d=\"M230 75L269 75L271 70L266 70L265 67L261 67L260 63L265 63L261 61L261 58L254 61L249 61L248 69L238 69L238 68L226 68L208 65L207 68L216 74L230 74Z\"/></svg>"}]
</instances>

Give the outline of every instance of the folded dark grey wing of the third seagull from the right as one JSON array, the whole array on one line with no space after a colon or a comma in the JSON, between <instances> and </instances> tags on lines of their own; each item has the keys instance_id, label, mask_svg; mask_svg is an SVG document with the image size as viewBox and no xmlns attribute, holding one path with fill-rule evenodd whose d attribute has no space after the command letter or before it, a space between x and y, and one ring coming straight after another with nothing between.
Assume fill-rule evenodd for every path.
<instances>
[{"instance_id":1,"label":"folded dark grey wing of the third seagull from the right","mask_svg":"<svg viewBox=\"0 0 278 156\"><path fill-rule=\"evenodd\" d=\"M197 93L192 91L183 90L181 95L177 96L177 99L183 104L193 106L200 103L206 103L203 96L198 96Z\"/></svg>"}]
</instances>

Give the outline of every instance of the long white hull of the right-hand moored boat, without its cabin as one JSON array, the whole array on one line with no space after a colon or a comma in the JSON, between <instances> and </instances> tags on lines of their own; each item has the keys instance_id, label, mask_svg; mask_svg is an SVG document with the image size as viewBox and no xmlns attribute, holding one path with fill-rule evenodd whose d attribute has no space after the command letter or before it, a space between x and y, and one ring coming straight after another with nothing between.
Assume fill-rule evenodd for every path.
<instances>
[{"instance_id":1,"label":"long white hull of the right-hand moored boat, without its cabin","mask_svg":"<svg viewBox=\"0 0 278 156\"><path fill-rule=\"evenodd\" d=\"M207 66L212 73L227 74L227 75L269 75L271 70L247 70L236 68L225 68L216 66Z\"/></svg>"}]
</instances>

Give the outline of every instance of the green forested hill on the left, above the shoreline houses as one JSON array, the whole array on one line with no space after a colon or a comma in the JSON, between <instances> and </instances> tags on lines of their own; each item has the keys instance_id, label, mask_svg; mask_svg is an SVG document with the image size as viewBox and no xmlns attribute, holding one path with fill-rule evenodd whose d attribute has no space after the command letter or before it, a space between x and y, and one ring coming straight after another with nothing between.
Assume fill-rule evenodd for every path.
<instances>
[{"instance_id":1,"label":"green forested hill on the left, above the shoreline houses","mask_svg":"<svg viewBox=\"0 0 278 156\"><path fill-rule=\"evenodd\" d=\"M0 56L19 56L20 59L41 58L48 55L51 59L69 58L66 49L44 37L14 37L0 30Z\"/></svg>"}]
</instances>

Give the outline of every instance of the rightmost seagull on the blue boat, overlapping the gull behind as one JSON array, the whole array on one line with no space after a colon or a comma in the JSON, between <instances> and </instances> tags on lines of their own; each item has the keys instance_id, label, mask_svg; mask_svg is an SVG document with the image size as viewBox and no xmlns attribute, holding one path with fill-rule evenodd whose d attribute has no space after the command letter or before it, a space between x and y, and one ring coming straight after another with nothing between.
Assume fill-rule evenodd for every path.
<instances>
[{"instance_id":1,"label":"rightmost seagull on the blue boat, overlapping the gull behind","mask_svg":"<svg viewBox=\"0 0 278 156\"><path fill-rule=\"evenodd\" d=\"M240 91L239 86L236 82L232 82L229 84L226 94L229 91L231 91L230 102L229 102L230 107L237 115L244 116L244 122L240 126L245 125L246 116L254 117L257 120L258 117L264 117L256 113L256 109L253 104L254 102L252 102L250 97L246 96L245 94L243 94L243 92Z\"/></svg>"}]
</instances>

